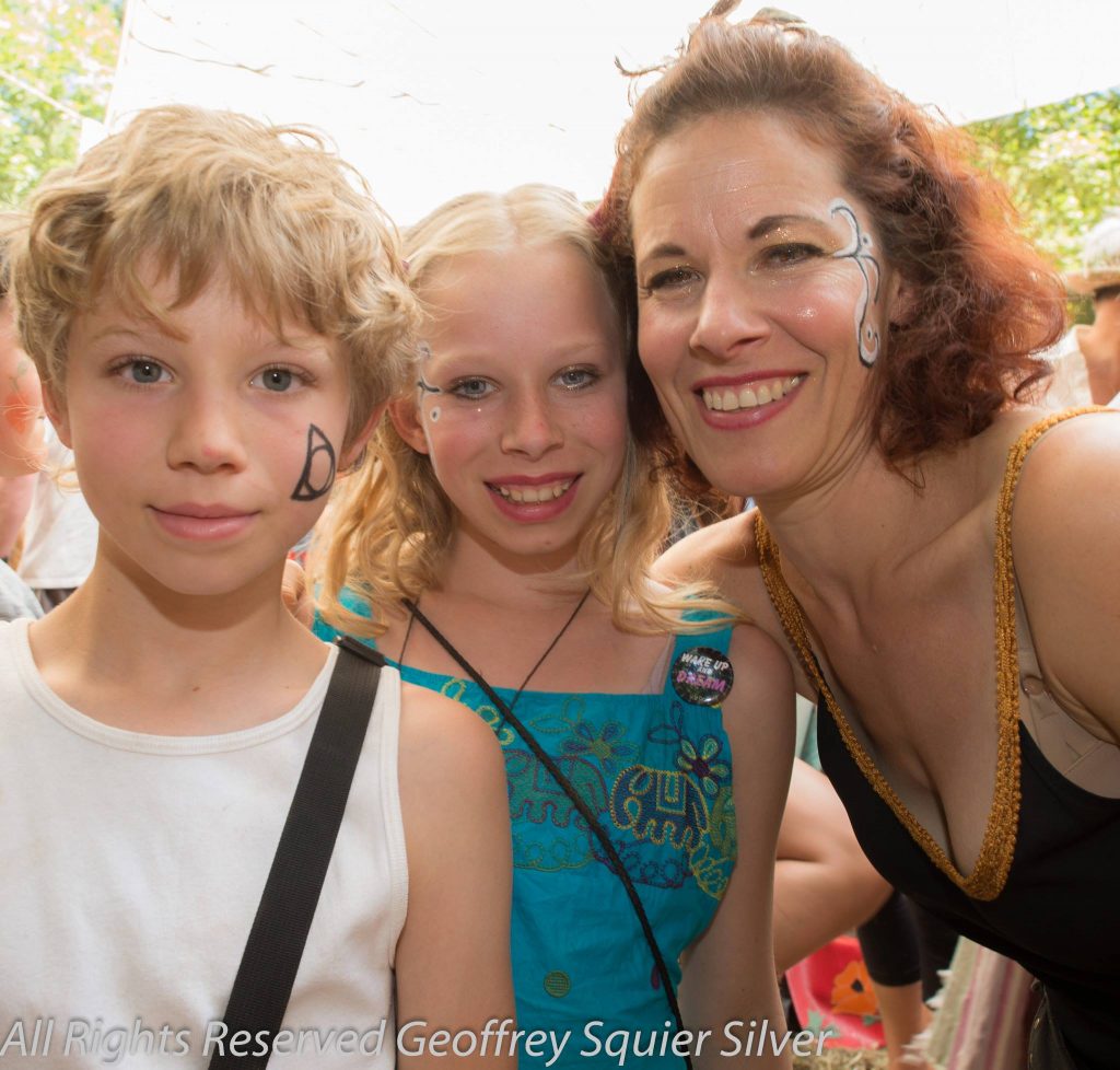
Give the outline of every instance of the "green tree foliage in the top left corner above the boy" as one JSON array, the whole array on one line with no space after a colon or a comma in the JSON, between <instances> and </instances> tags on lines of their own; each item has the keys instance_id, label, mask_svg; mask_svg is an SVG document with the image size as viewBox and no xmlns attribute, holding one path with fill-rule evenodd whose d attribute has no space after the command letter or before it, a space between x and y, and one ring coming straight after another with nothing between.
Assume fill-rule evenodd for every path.
<instances>
[{"instance_id":1,"label":"green tree foliage in the top left corner above the boy","mask_svg":"<svg viewBox=\"0 0 1120 1070\"><path fill-rule=\"evenodd\" d=\"M19 204L104 117L122 0L0 0L0 203Z\"/></svg>"}]
</instances>

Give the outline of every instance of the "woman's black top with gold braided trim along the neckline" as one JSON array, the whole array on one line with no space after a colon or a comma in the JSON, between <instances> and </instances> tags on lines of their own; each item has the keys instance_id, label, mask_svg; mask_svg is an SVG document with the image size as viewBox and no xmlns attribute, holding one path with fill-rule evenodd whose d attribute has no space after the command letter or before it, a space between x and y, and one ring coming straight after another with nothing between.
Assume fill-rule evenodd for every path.
<instances>
[{"instance_id":1,"label":"woman's black top with gold braided trim along the neckline","mask_svg":"<svg viewBox=\"0 0 1120 1070\"><path fill-rule=\"evenodd\" d=\"M1012 450L1009 458L1004 548L1008 569L1010 501L1018 475L1011 472L1012 464L1021 466L1030 445L1054 422L1032 428L1017 444L1021 447L1018 457ZM800 607L781 577L776 547L762 523L756 534L774 606L806 671L821 686L823 676L808 645ZM999 539L997 546L998 573ZM1006 598L1014 599L1014 589ZM997 612L997 620L1007 621L1010 615L1014 646L1014 601L1002 610L1004 616ZM1017 677L1010 686L1017 696ZM931 849L927 834L926 847L921 845L920 827L914 829L909 812L897 797L888 800L894 794L889 785L869 767L858 743L852 746L843 714L834 700L827 699L827 685L818 706L821 764L872 865L960 933L1015 959L1039 978L1054 1022L1080 1070L1116 1070L1120 1067L1120 799L1094 794L1068 781L1023 725L1017 698L1005 705L1014 720L1005 720L1000 742L1010 744L1019 761L1014 755L1001 761L1002 790L997 773L993 811L1002 806L1005 812L990 822L992 835L986 836L981 848L991 863L982 886L973 886L971 877L962 881L959 873L950 876L951 864L945 866L944 854ZM1002 859L1000 840L1006 845ZM941 864L931 857L939 853Z\"/></svg>"}]
</instances>

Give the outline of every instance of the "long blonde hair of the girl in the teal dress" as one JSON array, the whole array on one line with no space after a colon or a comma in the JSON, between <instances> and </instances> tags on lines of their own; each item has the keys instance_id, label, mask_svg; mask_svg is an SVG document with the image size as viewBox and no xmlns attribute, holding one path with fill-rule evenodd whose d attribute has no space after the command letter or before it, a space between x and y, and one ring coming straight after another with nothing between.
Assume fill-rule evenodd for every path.
<instances>
[{"instance_id":1,"label":"long blonde hair of the girl in the teal dress","mask_svg":"<svg viewBox=\"0 0 1120 1070\"><path fill-rule=\"evenodd\" d=\"M514 248L575 249L610 294L627 351L627 378L636 354L632 344L624 283L614 261L596 240L587 213L564 190L545 185L519 186L506 194L475 193L447 202L404 235L409 275L421 303L435 270L477 252ZM437 311L426 306L429 316ZM413 354L416 379L419 353ZM408 385L402 382L402 391ZM603 502L577 550L578 576L610 607L615 625L628 632L701 631L710 623L682 621L687 610L730 620L738 612L708 586L665 588L651 569L665 546L674 509L663 465L652 448L631 435L623 474ZM429 458L411 448L383 417L370 457L339 489L333 521L318 541L320 613L342 631L381 635L383 607L400 608L435 586L451 540L455 514ZM340 601L351 587L371 606L371 616L351 612Z\"/></svg>"}]
</instances>

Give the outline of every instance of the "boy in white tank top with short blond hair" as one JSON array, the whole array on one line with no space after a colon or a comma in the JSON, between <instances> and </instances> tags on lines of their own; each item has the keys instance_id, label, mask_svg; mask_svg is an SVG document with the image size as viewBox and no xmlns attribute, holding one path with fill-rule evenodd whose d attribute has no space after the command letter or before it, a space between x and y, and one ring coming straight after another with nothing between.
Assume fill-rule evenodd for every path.
<instances>
[{"instance_id":1,"label":"boy in white tank top with short blond hair","mask_svg":"<svg viewBox=\"0 0 1120 1070\"><path fill-rule=\"evenodd\" d=\"M284 610L286 555L395 387L413 297L314 134L188 108L49 178L11 259L100 536L73 597L0 624L0 1007L26 1025L8 1054L53 1020L59 1064L102 1066L128 1030L118 1064L200 1067L355 657ZM391 1066L394 1020L480 1031L512 1007L492 734L386 667L356 751L273 1066Z\"/></svg>"}]
</instances>

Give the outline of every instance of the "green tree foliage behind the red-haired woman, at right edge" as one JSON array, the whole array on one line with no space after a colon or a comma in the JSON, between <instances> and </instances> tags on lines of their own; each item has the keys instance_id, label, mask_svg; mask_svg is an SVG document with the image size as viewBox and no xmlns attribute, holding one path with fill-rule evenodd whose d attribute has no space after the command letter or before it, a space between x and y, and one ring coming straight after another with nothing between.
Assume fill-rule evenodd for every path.
<instances>
[{"instance_id":1,"label":"green tree foliage behind the red-haired woman, at right edge","mask_svg":"<svg viewBox=\"0 0 1120 1070\"><path fill-rule=\"evenodd\" d=\"M1062 270L1120 206L1120 89L972 123L981 164L1009 188L1026 233Z\"/></svg>"}]
</instances>

